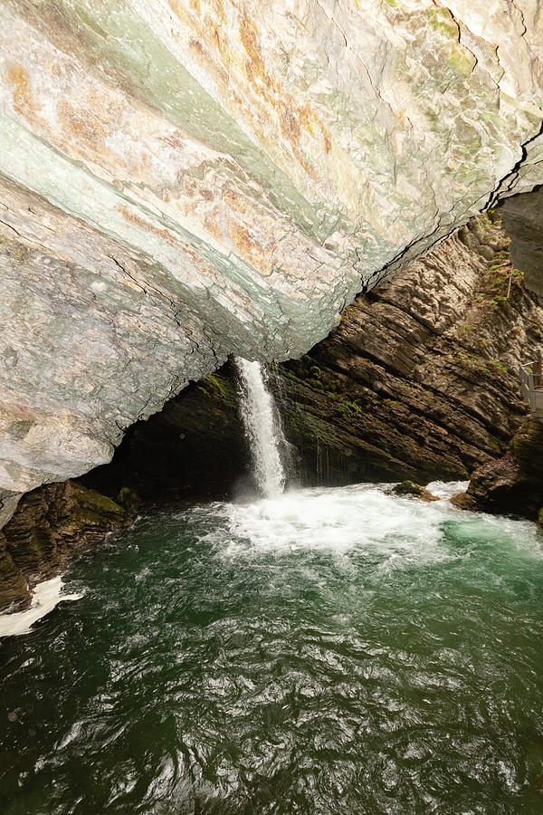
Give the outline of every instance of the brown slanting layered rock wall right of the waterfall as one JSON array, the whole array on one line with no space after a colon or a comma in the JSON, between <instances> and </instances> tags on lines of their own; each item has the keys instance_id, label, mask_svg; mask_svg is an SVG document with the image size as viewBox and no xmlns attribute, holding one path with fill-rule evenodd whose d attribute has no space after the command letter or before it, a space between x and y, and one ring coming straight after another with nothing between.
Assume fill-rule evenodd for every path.
<instances>
[{"instance_id":1,"label":"brown slanting layered rock wall right of the waterfall","mask_svg":"<svg viewBox=\"0 0 543 815\"><path fill-rule=\"evenodd\" d=\"M518 367L543 339L542 305L510 263L499 212L358 297L284 366L287 432L306 471L426 484L499 457L526 415Z\"/></svg>"}]
</instances>

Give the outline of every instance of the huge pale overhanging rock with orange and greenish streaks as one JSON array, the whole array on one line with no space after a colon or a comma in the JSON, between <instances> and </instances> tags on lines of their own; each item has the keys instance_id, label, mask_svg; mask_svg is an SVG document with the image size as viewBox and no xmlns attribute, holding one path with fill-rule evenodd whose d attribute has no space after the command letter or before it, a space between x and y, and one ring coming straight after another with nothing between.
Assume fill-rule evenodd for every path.
<instances>
[{"instance_id":1,"label":"huge pale overhanging rock with orange and greenish streaks","mask_svg":"<svg viewBox=\"0 0 543 815\"><path fill-rule=\"evenodd\" d=\"M300 355L356 292L543 181L538 12L5 0L4 505L109 460L229 353Z\"/></svg>"}]
</instances>

